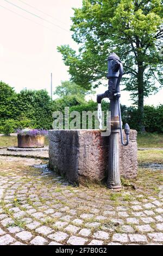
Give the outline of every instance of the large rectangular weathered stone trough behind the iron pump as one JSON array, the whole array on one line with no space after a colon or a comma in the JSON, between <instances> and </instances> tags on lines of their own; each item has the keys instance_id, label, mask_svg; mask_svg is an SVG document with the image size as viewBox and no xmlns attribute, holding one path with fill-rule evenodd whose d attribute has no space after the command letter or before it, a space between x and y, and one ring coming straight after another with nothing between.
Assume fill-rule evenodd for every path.
<instances>
[{"instance_id":1,"label":"large rectangular weathered stone trough behind the iron pump","mask_svg":"<svg viewBox=\"0 0 163 256\"><path fill-rule=\"evenodd\" d=\"M124 178L137 175L137 132L130 131L127 147L120 141L120 172ZM126 136L124 135L124 138ZM99 181L105 178L109 162L109 137L99 130L50 130L49 167L70 182L83 179Z\"/></svg>"}]
</instances>

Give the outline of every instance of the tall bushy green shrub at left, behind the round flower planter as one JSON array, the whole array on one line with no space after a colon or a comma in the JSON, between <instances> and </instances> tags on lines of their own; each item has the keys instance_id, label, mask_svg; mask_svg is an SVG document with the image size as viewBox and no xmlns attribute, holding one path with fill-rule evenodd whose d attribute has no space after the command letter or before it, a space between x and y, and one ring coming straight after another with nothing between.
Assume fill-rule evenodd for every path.
<instances>
[{"instance_id":1,"label":"tall bushy green shrub at left, behind the round flower planter","mask_svg":"<svg viewBox=\"0 0 163 256\"><path fill-rule=\"evenodd\" d=\"M8 84L0 83L0 132L25 127L51 129L53 111L54 103L46 90L15 93Z\"/></svg>"}]
</instances>

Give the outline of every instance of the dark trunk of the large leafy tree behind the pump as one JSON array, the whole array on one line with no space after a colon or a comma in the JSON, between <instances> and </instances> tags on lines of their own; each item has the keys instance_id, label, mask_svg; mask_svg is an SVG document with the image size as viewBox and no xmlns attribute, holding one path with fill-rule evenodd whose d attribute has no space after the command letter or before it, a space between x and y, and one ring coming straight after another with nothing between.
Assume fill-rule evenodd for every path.
<instances>
[{"instance_id":1,"label":"dark trunk of the large leafy tree behind the pump","mask_svg":"<svg viewBox=\"0 0 163 256\"><path fill-rule=\"evenodd\" d=\"M138 74L137 74L137 85L138 85L138 124L139 130L145 131L145 113L144 113L144 84L143 84L143 73L145 68L142 63L138 64Z\"/></svg>"}]
</instances>

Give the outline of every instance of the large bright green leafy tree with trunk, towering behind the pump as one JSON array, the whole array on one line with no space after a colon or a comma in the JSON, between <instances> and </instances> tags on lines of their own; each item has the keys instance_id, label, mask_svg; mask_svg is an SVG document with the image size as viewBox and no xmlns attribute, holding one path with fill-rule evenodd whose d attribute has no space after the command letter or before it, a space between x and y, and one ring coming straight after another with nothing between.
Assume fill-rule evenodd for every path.
<instances>
[{"instance_id":1,"label":"large bright green leafy tree with trunk, towering behind the pump","mask_svg":"<svg viewBox=\"0 0 163 256\"><path fill-rule=\"evenodd\" d=\"M79 53L68 45L58 47L71 80L86 89L91 83L101 84L108 54L114 51L120 56L123 83L138 106L141 131L144 97L158 92L163 82L162 15L162 0L83 0L82 8L74 9L71 27L74 41L82 44Z\"/></svg>"}]
</instances>

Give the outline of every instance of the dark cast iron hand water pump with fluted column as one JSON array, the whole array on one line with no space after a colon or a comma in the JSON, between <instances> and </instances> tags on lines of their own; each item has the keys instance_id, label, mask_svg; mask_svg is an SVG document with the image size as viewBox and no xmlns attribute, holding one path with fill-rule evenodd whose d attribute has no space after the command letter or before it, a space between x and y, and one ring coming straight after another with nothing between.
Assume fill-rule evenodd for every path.
<instances>
[{"instance_id":1,"label":"dark cast iron hand water pump with fluted column","mask_svg":"<svg viewBox=\"0 0 163 256\"><path fill-rule=\"evenodd\" d=\"M120 190L120 154L119 154L119 133L121 133L121 143L124 146L129 144L130 127L128 124L124 126L127 142L123 141L122 118L120 106L120 82L123 75L123 65L116 53L111 53L108 57L108 74L109 87L103 94L97 95L97 103L101 103L102 99L108 97L110 99L111 111L111 134L109 148L109 168L108 168L108 188Z\"/></svg>"}]
</instances>

